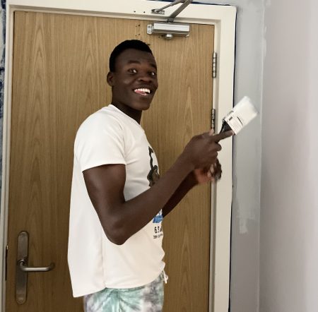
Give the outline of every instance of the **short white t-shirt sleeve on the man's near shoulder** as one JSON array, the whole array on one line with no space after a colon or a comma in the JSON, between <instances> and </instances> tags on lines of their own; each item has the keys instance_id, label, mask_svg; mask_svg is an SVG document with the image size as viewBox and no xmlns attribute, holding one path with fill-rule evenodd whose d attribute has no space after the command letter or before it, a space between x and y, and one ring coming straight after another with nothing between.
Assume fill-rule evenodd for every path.
<instances>
[{"instance_id":1,"label":"short white t-shirt sleeve on the man's near shoulder","mask_svg":"<svg viewBox=\"0 0 318 312\"><path fill-rule=\"evenodd\" d=\"M91 116L76 134L74 154L81 171L102 164L126 164L124 131L119 121L105 116Z\"/></svg>"}]
</instances>

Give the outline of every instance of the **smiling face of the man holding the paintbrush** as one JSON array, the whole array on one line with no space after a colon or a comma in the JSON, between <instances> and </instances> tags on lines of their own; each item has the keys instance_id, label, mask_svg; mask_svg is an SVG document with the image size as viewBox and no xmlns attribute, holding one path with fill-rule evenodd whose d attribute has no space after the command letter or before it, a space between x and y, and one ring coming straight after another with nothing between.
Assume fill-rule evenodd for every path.
<instances>
[{"instance_id":1,"label":"smiling face of the man holding the paintbrush","mask_svg":"<svg viewBox=\"0 0 318 312\"><path fill-rule=\"evenodd\" d=\"M158 88L153 55L126 49L117 56L114 67L114 72L107 75L107 83L112 87L112 104L129 116L148 109Z\"/></svg>"}]
</instances>

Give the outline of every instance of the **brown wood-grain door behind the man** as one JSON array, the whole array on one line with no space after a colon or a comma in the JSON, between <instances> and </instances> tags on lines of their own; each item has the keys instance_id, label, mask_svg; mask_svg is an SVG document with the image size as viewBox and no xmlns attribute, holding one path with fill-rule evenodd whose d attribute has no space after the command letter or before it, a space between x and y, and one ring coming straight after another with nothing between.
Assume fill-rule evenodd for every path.
<instances>
[{"instance_id":1,"label":"brown wood-grain door behind the man","mask_svg":"<svg viewBox=\"0 0 318 312\"><path fill-rule=\"evenodd\" d=\"M82 311L67 266L73 140L86 117L110 103L108 57L119 42L150 44L159 89L143 126L161 173L194 134L207 131L212 103L213 26L189 38L146 35L146 21L16 12L8 215L6 311ZM208 311L210 188L194 188L164 221L165 312ZM16 303L16 249L30 235L25 304Z\"/></svg>"}]
</instances>

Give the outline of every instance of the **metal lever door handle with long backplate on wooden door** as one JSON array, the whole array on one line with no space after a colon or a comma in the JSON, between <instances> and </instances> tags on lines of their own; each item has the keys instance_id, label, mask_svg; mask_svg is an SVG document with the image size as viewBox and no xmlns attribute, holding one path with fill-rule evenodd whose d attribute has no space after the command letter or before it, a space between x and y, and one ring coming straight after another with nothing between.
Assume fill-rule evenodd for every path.
<instances>
[{"instance_id":1,"label":"metal lever door handle with long backplate on wooden door","mask_svg":"<svg viewBox=\"0 0 318 312\"><path fill-rule=\"evenodd\" d=\"M47 272L54 269L54 263L48 267L29 267L28 266L29 234L22 231L18 235L18 253L16 261L16 302L24 304L27 298L28 273Z\"/></svg>"}]
</instances>

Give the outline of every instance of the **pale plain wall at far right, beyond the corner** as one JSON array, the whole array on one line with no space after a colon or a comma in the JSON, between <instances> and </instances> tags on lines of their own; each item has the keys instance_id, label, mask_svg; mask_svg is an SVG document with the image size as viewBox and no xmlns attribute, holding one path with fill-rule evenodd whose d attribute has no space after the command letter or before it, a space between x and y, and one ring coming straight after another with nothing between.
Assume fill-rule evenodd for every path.
<instances>
[{"instance_id":1,"label":"pale plain wall at far right, beyond the corner","mask_svg":"<svg viewBox=\"0 0 318 312\"><path fill-rule=\"evenodd\" d=\"M261 312L318 311L318 2L268 1Z\"/></svg>"}]
</instances>

